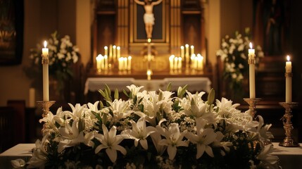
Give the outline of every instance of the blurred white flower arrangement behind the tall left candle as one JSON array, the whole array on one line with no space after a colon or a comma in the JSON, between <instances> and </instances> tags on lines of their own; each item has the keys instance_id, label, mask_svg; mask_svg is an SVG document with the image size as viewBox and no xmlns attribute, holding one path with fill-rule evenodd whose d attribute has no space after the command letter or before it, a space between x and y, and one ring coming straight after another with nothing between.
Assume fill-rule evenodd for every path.
<instances>
[{"instance_id":1,"label":"blurred white flower arrangement behind the tall left candle","mask_svg":"<svg viewBox=\"0 0 302 169\"><path fill-rule=\"evenodd\" d=\"M60 92L64 87L64 81L73 77L71 66L79 60L79 49L73 45L68 35L60 39L56 31L51 34L51 38L47 42L47 48L49 48L49 75L58 80L57 92ZM25 72L32 79L37 79L37 74L42 73L41 55L43 47L42 44L37 44L36 49L30 49L32 65L25 68Z\"/></svg>"}]
</instances>

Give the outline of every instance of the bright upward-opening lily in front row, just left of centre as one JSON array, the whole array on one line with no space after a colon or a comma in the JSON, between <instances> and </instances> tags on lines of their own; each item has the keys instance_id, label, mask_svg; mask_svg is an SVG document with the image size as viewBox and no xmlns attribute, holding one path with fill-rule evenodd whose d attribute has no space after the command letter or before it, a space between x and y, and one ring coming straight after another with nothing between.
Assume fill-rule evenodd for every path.
<instances>
[{"instance_id":1,"label":"bright upward-opening lily in front row, just left of centre","mask_svg":"<svg viewBox=\"0 0 302 169\"><path fill-rule=\"evenodd\" d=\"M145 118L139 118L137 123L133 120L130 121L132 124L132 130L128 129L122 132L122 137L126 139L134 139L134 146L137 146L139 143L144 149L148 149L148 143L146 138L153 132L155 128L152 126L146 127Z\"/></svg>"}]
</instances>

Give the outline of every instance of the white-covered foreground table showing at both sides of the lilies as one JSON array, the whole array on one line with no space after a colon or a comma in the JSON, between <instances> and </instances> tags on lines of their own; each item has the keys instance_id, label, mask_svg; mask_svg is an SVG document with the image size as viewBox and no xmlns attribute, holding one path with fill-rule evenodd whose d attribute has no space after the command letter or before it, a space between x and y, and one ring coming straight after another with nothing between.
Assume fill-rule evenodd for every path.
<instances>
[{"instance_id":1,"label":"white-covered foreground table showing at both sides of the lilies","mask_svg":"<svg viewBox=\"0 0 302 169\"><path fill-rule=\"evenodd\" d=\"M298 169L302 168L302 147L283 147L279 143L272 143L274 145L274 152L272 155L279 157L279 165L282 169ZM11 149L0 154L0 169L13 168L11 161L22 158L28 161L32 156L32 149L34 144L17 144Z\"/></svg>"}]
</instances>

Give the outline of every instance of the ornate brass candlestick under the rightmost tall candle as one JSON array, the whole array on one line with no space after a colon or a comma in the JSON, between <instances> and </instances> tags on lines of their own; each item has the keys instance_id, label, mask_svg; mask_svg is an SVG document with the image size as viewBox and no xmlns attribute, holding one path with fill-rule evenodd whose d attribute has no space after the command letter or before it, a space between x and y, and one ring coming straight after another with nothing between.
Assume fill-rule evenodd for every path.
<instances>
[{"instance_id":1,"label":"ornate brass candlestick under the rightmost tall candle","mask_svg":"<svg viewBox=\"0 0 302 169\"><path fill-rule=\"evenodd\" d=\"M298 103L291 102L279 102L279 104L285 108L285 114L280 119L283 122L283 128L285 130L285 139L283 142L279 143L279 146L287 146L287 147L293 147L293 146L300 146L297 142L294 142L294 139L291 137L291 130L294 129L293 125L291 124L291 118L293 115L291 115L291 109L298 106Z\"/></svg>"}]
</instances>

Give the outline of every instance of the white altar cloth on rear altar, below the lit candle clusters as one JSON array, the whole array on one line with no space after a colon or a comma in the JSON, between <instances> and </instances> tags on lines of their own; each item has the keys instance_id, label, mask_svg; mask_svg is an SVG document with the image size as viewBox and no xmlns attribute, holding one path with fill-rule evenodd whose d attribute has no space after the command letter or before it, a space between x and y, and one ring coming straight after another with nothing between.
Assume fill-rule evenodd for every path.
<instances>
[{"instance_id":1,"label":"white altar cloth on rear altar, below the lit candle clusters","mask_svg":"<svg viewBox=\"0 0 302 169\"><path fill-rule=\"evenodd\" d=\"M184 87L188 84L189 91L210 92L211 82L208 77L172 77L163 80L136 80L127 77L89 77L85 82L84 94L89 91L96 92L99 89L104 89L105 84L108 85L113 91L118 89L122 92L123 89L127 90L126 86L135 84L137 86L144 86L148 91L158 91L158 89L165 90L171 82L172 91L177 91L178 87Z\"/></svg>"}]
</instances>

